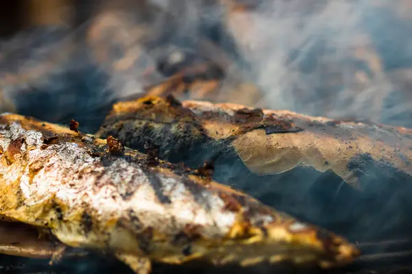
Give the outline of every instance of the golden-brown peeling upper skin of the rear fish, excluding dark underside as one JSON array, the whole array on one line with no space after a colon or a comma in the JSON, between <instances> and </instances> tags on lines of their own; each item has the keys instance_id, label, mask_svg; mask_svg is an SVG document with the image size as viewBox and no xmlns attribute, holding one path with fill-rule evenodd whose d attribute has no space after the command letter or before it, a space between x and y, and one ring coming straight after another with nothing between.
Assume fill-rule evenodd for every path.
<instances>
[{"instance_id":1,"label":"golden-brown peeling upper skin of the rear fish, excluding dark underside","mask_svg":"<svg viewBox=\"0 0 412 274\"><path fill-rule=\"evenodd\" d=\"M161 97L119 102L97 136L108 134L133 148L150 138L172 155L185 155L201 143L218 147L214 153L233 147L247 168L258 175L284 173L304 165L321 172L332 170L356 186L359 157L412 173L412 129L233 103L178 104Z\"/></svg>"}]
</instances>

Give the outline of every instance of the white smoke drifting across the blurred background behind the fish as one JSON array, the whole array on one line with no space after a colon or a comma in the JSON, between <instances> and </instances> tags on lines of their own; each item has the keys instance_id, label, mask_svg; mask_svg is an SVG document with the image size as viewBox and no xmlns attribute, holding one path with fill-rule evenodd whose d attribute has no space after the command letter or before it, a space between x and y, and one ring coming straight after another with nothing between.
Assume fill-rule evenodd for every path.
<instances>
[{"instance_id":1,"label":"white smoke drifting across the blurred background behind the fish","mask_svg":"<svg viewBox=\"0 0 412 274\"><path fill-rule=\"evenodd\" d=\"M53 88L65 85L55 82L54 75L88 62L106 74L102 92L111 90L111 99L141 94L145 86L164 79L154 69L159 55L186 47L226 69L216 101L243 99L262 108L412 127L408 0L101 2L82 26L84 43L76 45L81 54L77 49L75 55L65 55L63 49L71 47L72 39L55 34L50 34L55 42L39 42L41 47L32 46L30 41L40 39L30 38L30 32L3 43L2 49L27 55L13 59L1 51L3 95L12 98L19 86L62 90ZM239 8L241 4L249 8ZM213 35L220 38L210 42L212 34L202 29L214 26L218 34ZM62 58L49 57L53 55ZM42 62L47 65L44 72L36 69ZM16 75L28 76L10 84ZM264 96L249 99L250 84ZM93 82L88 86L102 88ZM242 89L238 96L224 96L237 89Z\"/></svg>"}]
</instances>

